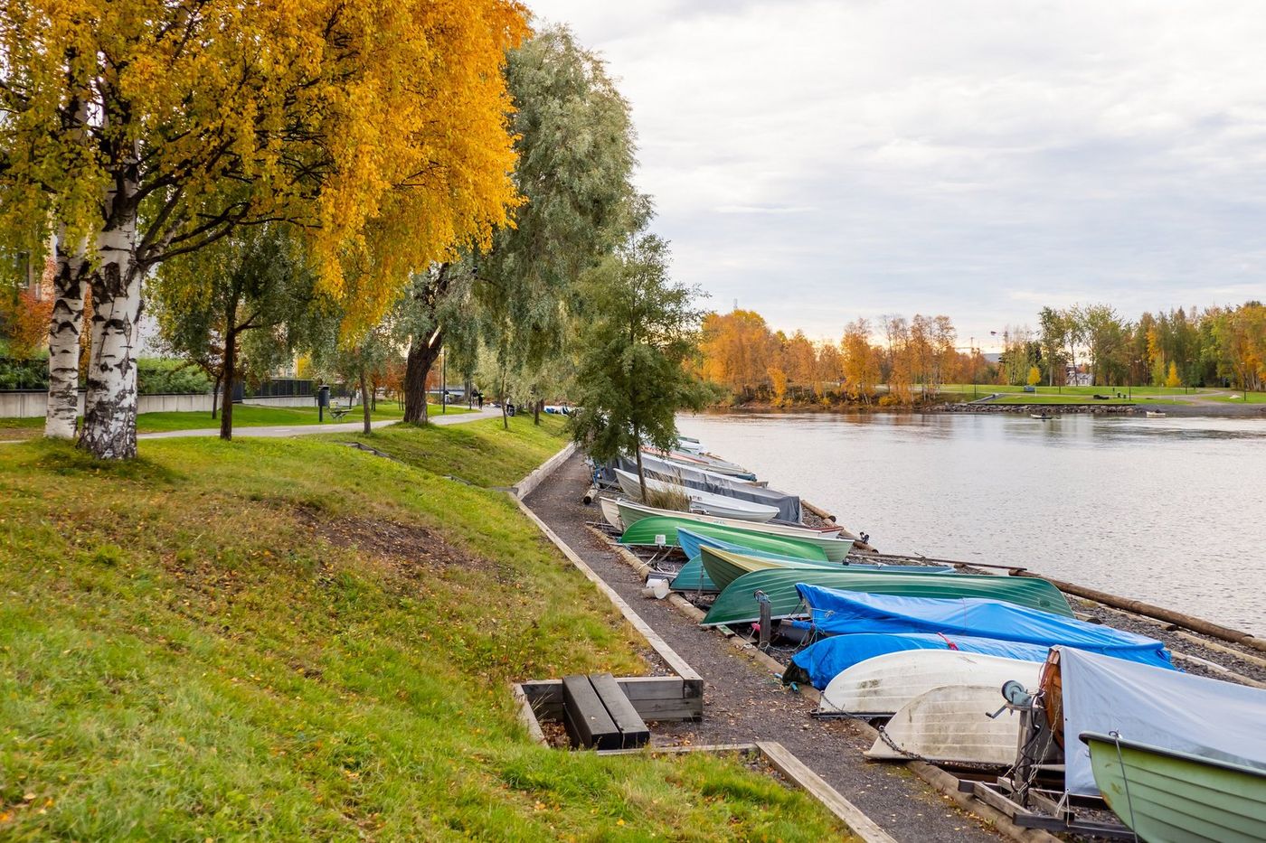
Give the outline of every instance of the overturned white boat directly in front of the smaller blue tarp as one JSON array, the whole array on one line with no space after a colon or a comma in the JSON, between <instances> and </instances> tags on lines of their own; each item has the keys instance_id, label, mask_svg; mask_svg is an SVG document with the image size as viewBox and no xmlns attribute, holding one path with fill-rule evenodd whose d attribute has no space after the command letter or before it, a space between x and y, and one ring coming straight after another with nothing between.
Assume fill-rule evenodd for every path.
<instances>
[{"instance_id":1,"label":"overturned white boat directly in front of the smaller blue tarp","mask_svg":"<svg viewBox=\"0 0 1266 843\"><path fill-rule=\"evenodd\" d=\"M1041 672L1041 662L955 649L906 649L867 658L836 676L822 692L820 710L889 716L934 687L990 685L1000 689L1003 682L1017 680L1024 687L1036 689Z\"/></svg>"}]
</instances>

